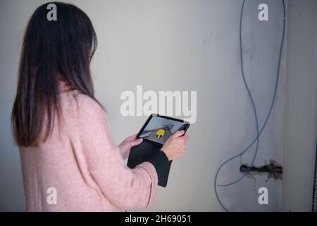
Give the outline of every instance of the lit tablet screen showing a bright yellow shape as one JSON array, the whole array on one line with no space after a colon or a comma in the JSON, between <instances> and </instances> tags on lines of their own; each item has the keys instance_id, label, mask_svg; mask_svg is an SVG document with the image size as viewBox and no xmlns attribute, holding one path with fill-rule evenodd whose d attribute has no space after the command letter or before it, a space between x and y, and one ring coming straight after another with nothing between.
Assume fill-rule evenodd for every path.
<instances>
[{"instance_id":1,"label":"lit tablet screen showing a bright yellow shape","mask_svg":"<svg viewBox=\"0 0 317 226\"><path fill-rule=\"evenodd\" d=\"M170 117L151 115L144 124L141 131L138 133L138 138L143 138L147 141L164 144L165 141L180 130L182 126L189 125L186 121L173 119ZM184 127L183 127L184 128ZM182 128L182 129L183 129ZM186 128L187 129L187 128ZM184 129L186 131L186 129Z\"/></svg>"}]
</instances>

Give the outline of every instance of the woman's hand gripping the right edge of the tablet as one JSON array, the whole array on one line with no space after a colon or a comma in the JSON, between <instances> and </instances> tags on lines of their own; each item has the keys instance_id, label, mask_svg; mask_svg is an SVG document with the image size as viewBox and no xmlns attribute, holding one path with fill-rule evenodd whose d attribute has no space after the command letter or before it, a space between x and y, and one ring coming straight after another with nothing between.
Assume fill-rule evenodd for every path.
<instances>
[{"instance_id":1,"label":"woman's hand gripping the right edge of the tablet","mask_svg":"<svg viewBox=\"0 0 317 226\"><path fill-rule=\"evenodd\" d=\"M186 142L189 139L188 135L184 135L185 131L176 131L164 143L161 150L166 154L168 160L175 160L185 154ZM182 136L184 135L184 136Z\"/></svg>"}]
</instances>

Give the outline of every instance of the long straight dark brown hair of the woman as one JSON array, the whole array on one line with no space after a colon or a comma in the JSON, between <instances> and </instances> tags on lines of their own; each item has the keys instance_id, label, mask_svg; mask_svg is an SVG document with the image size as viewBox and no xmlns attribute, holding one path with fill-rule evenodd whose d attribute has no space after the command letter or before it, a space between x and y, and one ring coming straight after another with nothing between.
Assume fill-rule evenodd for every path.
<instances>
[{"instance_id":1,"label":"long straight dark brown hair of the woman","mask_svg":"<svg viewBox=\"0 0 317 226\"><path fill-rule=\"evenodd\" d=\"M11 123L15 142L25 147L38 145L43 129L44 141L49 136L54 115L61 111L61 82L95 100L89 69L97 48L92 22L76 6L51 3L56 5L57 20L46 18L50 3L39 6L23 40Z\"/></svg>"}]
</instances>

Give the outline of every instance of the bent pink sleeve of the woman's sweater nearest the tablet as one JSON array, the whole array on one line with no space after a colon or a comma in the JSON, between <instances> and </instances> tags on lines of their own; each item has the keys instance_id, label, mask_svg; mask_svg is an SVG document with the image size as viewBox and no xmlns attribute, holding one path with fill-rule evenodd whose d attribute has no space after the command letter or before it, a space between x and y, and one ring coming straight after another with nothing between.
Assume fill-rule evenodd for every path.
<instances>
[{"instance_id":1,"label":"bent pink sleeve of the woman's sweater nearest the tablet","mask_svg":"<svg viewBox=\"0 0 317 226\"><path fill-rule=\"evenodd\" d=\"M85 97L78 109L77 138L89 173L109 201L120 208L147 208L154 202L158 186L151 162L130 169L113 141L106 112Z\"/></svg>"}]
</instances>

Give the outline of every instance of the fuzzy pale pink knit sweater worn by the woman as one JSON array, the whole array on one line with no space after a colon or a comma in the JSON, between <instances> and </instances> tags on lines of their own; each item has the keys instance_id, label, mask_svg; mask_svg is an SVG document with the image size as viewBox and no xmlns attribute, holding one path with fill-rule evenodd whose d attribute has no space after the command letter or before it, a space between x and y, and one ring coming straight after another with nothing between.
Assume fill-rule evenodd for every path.
<instances>
[{"instance_id":1,"label":"fuzzy pale pink knit sweater worn by the woman","mask_svg":"<svg viewBox=\"0 0 317 226\"><path fill-rule=\"evenodd\" d=\"M45 143L20 147L28 211L147 208L158 176L150 162L130 169L113 141L106 112L77 91L61 93L62 117ZM56 204L51 203L56 189ZM54 191L54 190L53 190Z\"/></svg>"}]
</instances>

